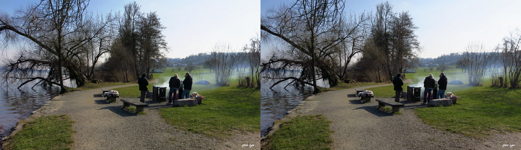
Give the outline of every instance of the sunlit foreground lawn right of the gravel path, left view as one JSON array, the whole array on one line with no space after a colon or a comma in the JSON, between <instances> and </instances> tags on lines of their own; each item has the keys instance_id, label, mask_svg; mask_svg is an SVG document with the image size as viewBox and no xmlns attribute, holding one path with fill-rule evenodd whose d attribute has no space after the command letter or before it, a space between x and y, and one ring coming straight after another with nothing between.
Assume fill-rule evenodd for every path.
<instances>
[{"instance_id":1,"label":"sunlit foreground lawn right of the gravel path, left view","mask_svg":"<svg viewBox=\"0 0 521 150\"><path fill-rule=\"evenodd\" d=\"M220 139L236 132L260 131L259 89L208 86L197 92L206 96L202 104L159 109L161 116L177 128Z\"/></svg>"}]
</instances>

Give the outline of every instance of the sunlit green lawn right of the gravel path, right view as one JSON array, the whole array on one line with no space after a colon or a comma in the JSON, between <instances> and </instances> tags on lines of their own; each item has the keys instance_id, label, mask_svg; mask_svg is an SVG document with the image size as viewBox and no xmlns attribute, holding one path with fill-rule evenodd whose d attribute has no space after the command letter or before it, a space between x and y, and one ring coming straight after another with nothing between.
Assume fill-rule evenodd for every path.
<instances>
[{"instance_id":1,"label":"sunlit green lawn right of the gravel path, right view","mask_svg":"<svg viewBox=\"0 0 521 150\"><path fill-rule=\"evenodd\" d=\"M457 104L415 109L417 115L434 128L474 138L521 131L519 89L461 86L453 92L462 97Z\"/></svg>"}]
</instances>

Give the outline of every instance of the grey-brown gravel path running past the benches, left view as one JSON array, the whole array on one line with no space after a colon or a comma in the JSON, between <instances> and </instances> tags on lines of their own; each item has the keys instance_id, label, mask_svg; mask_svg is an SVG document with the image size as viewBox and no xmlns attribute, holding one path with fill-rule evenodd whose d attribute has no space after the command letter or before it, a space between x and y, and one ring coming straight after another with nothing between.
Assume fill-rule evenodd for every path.
<instances>
[{"instance_id":1,"label":"grey-brown gravel path running past the benches, left view","mask_svg":"<svg viewBox=\"0 0 521 150\"><path fill-rule=\"evenodd\" d=\"M134 86L110 86L108 89ZM176 129L159 116L166 102L149 104L144 115L121 109L118 99L108 103L100 95L101 88L61 95L38 115L69 115L73 121L74 149L259 149L259 133L237 134L227 140ZM131 98L139 100L139 98ZM251 148L242 144L255 144Z\"/></svg>"}]
</instances>

